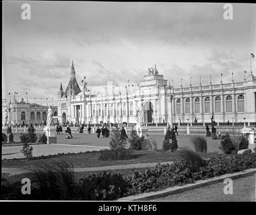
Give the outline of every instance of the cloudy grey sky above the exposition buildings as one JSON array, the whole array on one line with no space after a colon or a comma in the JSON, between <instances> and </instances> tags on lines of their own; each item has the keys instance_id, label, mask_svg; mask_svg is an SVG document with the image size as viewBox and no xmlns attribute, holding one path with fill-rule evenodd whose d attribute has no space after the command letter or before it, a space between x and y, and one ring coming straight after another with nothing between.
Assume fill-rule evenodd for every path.
<instances>
[{"instance_id":1,"label":"cloudy grey sky above the exposition buildings","mask_svg":"<svg viewBox=\"0 0 256 215\"><path fill-rule=\"evenodd\" d=\"M57 98L67 86L71 60L82 87L127 85L143 79L148 67L174 87L243 80L255 51L256 6L232 4L233 19L223 18L223 3L102 3L34 1L31 20L23 20L22 1L3 1L2 97L40 103ZM255 74L256 62L252 60Z\"/></svg>"}]
</instances>

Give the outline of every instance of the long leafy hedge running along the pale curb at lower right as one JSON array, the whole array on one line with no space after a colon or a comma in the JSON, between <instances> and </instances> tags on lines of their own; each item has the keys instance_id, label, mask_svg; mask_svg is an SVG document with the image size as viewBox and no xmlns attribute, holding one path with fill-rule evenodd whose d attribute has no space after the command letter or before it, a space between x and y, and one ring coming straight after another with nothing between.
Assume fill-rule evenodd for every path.
<instances>
[{"instance_id":1,"label":"long leafy hedge running along the pale curb at lower right","mask_svg":"<svg viewBox=\"0 0 256 215\"><path fill-rule=\"evenodd\" d=\"M183 162L157 165L156 167L146 169L146 171L134 171L133 175L129 177L132 188L129 190L128 195L156 191L174 185L183 185L184 183L193 183L197 180L255 167L255 153L229 155L228 157L226 155L214 155L205 160L205 165L199 167L195 172L191 165Z\"/></svg>"}]
</instances>

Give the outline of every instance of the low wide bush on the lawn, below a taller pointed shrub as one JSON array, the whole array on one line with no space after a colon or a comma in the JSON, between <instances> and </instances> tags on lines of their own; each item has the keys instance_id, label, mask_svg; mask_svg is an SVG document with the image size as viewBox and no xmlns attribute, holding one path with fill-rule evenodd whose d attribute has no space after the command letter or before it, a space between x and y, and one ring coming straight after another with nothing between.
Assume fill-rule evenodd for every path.
<instances>
[{"instance_id":1,"label":"low wide bush on the lawn, below a taller pointed shrub","mask_svg":"<svg viewBox=\"0 0 256 215\"><path fill-rule=\"evenodd\" d=\"M98 157L98 159L102 161L128 160L134 158L135 155L132 154L132 151L125 148L103 149L100 150Z\"/></svg>"}]
</instances>

